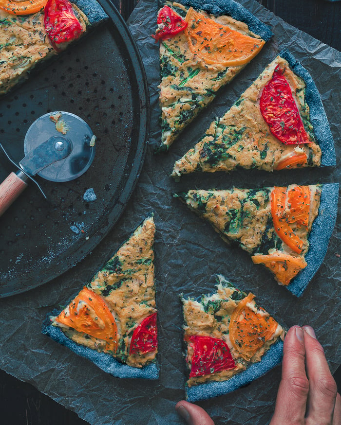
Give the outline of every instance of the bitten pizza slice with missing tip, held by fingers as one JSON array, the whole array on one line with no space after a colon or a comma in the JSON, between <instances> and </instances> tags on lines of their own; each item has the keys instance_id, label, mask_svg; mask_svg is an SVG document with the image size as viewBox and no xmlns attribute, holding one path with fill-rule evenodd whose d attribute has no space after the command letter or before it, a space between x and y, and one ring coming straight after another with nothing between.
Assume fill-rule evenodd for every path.
<instances>
[{"instance_id":1,"label":"bitten pizza slice with missing tip, held by fingers","mask_svg":"<svg viewBox=\"0 0 341 425\"><path fill-rule=\"evenodd\" d=\"M187 400L227 394L281 362L284 329L254 298L221 275L212 295L182 296Z\"/></svg>"}]
</instances>

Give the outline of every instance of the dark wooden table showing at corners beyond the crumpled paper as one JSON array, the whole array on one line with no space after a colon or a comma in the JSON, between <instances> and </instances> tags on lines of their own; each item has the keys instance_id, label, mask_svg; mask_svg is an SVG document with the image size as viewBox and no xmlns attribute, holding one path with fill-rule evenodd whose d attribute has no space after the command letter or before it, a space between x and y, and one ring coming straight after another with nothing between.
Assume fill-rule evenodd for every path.
<instances>
[{"instance_id":1,"label":"dark wooden table showing at corners beyond the crumpled paper","mask_svg":"<svg viewBox=\"0 0 341 425\"><path fill-rule=\"evenodd\" d=\"M157 1L157 0L155 0ZM341 50L341 1L258 0L289 24ZM128 19L136 0L114 0L123 18ZM334 374L341 391L341 368ZM0 370L1 425L87 425L30 384ZM114 425L114 424L113 424Z\"/></svg>"}]
</instances>

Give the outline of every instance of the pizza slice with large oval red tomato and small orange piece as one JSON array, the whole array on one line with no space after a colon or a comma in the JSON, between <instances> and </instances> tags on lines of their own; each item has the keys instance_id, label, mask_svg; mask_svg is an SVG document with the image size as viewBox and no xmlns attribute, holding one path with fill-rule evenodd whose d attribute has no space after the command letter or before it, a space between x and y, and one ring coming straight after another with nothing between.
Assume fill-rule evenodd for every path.
<instances>
[{"instance_id":1,"label":"pizza slice with large oval red tomato and small orange piece","mask_svg":"<svg viewBox=\"0 0 341 425\"><path fill-rule=\"evenodd\" d=\"M309 73L285 51L175 162L172 177L237 167L273 171L321 165L336 165L321 97Z\"/></svg>"}]
</instances>

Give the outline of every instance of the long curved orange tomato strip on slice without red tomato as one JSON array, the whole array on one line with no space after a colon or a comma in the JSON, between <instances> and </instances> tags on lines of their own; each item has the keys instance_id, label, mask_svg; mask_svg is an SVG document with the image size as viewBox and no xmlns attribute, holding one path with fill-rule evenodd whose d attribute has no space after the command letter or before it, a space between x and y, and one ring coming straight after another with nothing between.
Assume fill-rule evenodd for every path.
<instances>
[{"instance_id":1,"label":"long curved orange tomato strip on slice without red tomato","mask_svg":"<svg viewBox=\"0 0 341 425\"><path fill-rule=\"evenodd\" d=\"M271 193L271 216L277 235L284 244L294 252L301 254L303 241L289 226L289 220L285 211L286 189L275 187Z\"/></svg>"}]
</instances>

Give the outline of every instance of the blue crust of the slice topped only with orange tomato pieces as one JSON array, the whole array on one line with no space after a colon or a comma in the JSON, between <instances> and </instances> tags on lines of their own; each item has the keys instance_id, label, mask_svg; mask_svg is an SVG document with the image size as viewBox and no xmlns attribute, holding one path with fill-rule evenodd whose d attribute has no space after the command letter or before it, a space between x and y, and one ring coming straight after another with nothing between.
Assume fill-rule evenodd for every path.
<instances>
[{"instance_id":1,"label":"blue crust of the slice topped only with orange tomato pieces","mask_svg":"<svg viewBox=\"0 0 341 425\"><path fill-rule=\"evenodd\" d=\"M310 248L305 256L307 266L287 286L289 291L297 297L303 294L304 289L322 265L336 223L338 200L339 184L323 184L319 215L314 220L308 238Z\"/></svg>"}]
</instances>

